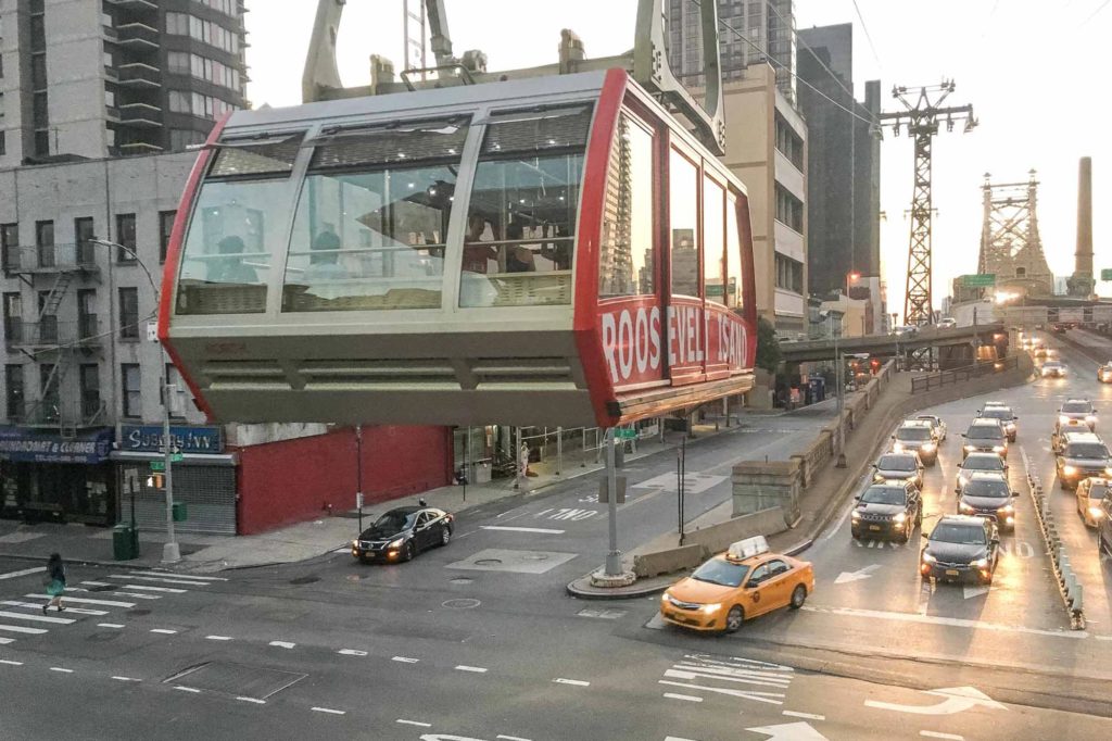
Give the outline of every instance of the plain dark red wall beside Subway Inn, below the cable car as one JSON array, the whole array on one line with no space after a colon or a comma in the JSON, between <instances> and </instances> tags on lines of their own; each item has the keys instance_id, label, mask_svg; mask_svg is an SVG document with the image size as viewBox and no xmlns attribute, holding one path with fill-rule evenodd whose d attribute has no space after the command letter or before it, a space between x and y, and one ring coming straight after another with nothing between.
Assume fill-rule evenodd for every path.
<instances>
[{"instance_id":1,"label":"plain dark red wall beside Subway Inn, below the cable car","mask_svg":"<svg viewBox=\"0 0 1112 741\"><path fill-rule=\"evenodd\" d=\"M355 508L358 445L346 428L237 448L240 535ZM448 427L365 427L365 502L385 502L451 482Z\"/></svg>"}]
</instances>

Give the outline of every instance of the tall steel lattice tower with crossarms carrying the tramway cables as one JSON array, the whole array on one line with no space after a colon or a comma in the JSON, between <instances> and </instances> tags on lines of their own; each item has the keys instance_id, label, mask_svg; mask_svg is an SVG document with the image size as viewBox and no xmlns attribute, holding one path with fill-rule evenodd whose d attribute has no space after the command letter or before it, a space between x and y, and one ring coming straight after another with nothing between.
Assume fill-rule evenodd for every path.
<instances>
[{"instance_id":1,"label":"tall steel lattice tower with crossarms carrying the tramway cables","mask_svg":"<svg viewBox=\"0 0 1112 741\"><path fill-rule=\"evenodd\" d=\"M911 204L911 240L907 249L907 284L904 294L904 324L921 326L931 323L931 145L945 121L946 131L954 130L955 121L965 121L963 131L977 125L973 106L949 106L942 101L954 91L953 80L942 85L919 88L912 102L909 88L893 87L892 97L904 110L881 113L881 125L891 126L900 136L901 126L915 139L915 182Z\"/></svg>"}]
</instances>

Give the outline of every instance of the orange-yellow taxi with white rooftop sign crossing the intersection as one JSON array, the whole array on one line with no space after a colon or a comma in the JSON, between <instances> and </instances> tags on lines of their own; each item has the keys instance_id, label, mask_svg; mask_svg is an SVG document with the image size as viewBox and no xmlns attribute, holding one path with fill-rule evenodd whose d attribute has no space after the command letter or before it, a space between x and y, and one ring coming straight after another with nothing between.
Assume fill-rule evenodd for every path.
<instances>
[{"instance_id":1,"label":"orange-yellow taxi with white rooftop sign crossing the intersection","mask_svg":"<svg viewBox=\"0 0 1112 741\"><path fill-rule=\"evenodd\" d=\"M757 535L734 543L665 590L661 618L682 628L733 633L778 607L798 610L814 589L810 562L770 553Z\"/></svg>"}]
</instances>

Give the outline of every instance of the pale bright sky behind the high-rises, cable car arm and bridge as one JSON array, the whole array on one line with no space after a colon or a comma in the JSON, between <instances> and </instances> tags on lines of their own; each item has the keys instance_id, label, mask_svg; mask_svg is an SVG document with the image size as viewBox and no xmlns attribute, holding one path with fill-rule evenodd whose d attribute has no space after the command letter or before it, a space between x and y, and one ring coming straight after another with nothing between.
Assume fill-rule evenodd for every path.
<instances>
[{"instance_id":1,"label":"pale bright sky behind the high-rises, cable car arm and bridge","mask_svg":"<svg viewBox=\"0 0 1112 741\"><path fill-rule=\"evenodd\" d=\"M416 4L416 0L414 0ZM949 102L973 103L981 126L941 134L934 149L935 305L956 275L976 271L984 174L1022 181L1037 170L1039 225L1055 275L1073 271L1078 159L1093 158L1095 268L1112 268L1112 3L1106 0L798 0L798 28L854 24L854 83L880 79L884 110L893 85L953 78ZM300 102L301 68L316 0L247 0L248 97L258 106ZM489 69L556 61L559 30L583 38L589 56L633 46L636 0L446 0L455 52L483 49ZM1108 7L1105 7L1108 6ZM872 46L866 38L872 39ZM348 0L338 47L347 85L365 83L367 59L401 68L401 0ZM875 51L874 51L875 49ZM728 124L728 122L727 122ZM885 131L881 151L881 250L890 310L902 314L907 269L912 147ZM1102 204L1104 205L1102 207ZM820 225L812 224L811 228ZM1102 294L1112 290L1100 284Z\"/></svg>"}]
</instances>

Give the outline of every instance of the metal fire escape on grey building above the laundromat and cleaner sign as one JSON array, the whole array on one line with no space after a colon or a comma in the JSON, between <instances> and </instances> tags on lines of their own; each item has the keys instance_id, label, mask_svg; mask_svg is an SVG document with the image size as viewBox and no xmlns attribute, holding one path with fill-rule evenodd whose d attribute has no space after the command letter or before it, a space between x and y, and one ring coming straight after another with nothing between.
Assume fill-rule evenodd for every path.
<instances>
[{"instance_id":1,"label":"metal fire escape on grey building above the laundromat and cleaner sign","mask_svg":"<svg viewBox=\"0 0 1112 741\"><path fill-rule=\"evenodd\" d=\"M14 362L22 356L39 370L38 395L28 394L24 407L10 409L9 418L24 427L58 429L62 437L72 438L81 428L107 424L99 385L85 387L81 378L75 378L77 366L100 358L105 338L96 313L83 310L91 306L66 302L76 305L73 318L59 309L70 293L99 284L100 269L91 244L54 244L52 229L38 234L37 241L31 247L9 248L3 256L4 275L18 277L34 299L23 303L28 309L33 306L33 312L4 317L8 357ZM27 316L33 319L28 322Z\"/></svg>"}]
</instances>

